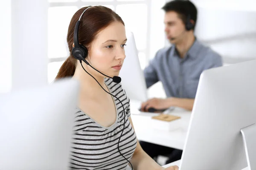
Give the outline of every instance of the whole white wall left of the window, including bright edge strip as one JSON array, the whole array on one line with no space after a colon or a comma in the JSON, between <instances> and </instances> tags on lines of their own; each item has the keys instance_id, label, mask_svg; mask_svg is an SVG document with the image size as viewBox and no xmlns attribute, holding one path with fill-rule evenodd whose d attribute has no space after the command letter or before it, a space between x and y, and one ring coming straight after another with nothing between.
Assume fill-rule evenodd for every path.
<instances>
[{"instance_id":1,"label":"whole white wall left of the window, including bright edge strip","mask_svg":"<svg viewBox=\"0 0 256 170\"><path fill-rule=\"evenodd\" d=\"M0 1L0 93L47 84L47 0Z\"/></svg>"}]
</instances>

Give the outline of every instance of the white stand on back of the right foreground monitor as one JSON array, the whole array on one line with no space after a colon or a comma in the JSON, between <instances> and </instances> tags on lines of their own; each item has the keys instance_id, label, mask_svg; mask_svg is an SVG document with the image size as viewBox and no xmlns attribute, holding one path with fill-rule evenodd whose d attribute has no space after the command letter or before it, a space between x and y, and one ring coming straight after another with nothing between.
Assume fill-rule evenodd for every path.
<instances>
[{"instance_id":1,"label":"white stand on back of the right foreground monitor","mask_svg":"<svg viewBox=\"0 0 256 170\"><path fill-rule=\"evenodd\" d=\"M243 136L248 168L256 170L256 124L244 127L240 131Z\"/></svg>"}]
</instances>

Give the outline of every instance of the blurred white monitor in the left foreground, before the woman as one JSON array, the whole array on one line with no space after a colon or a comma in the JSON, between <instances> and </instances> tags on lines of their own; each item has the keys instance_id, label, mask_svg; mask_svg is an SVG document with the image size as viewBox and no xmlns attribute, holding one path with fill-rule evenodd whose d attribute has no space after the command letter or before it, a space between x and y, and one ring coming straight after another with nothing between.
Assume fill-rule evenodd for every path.
<instances>
[{"instance_id":1,"label":"blurred white monitor in the left foreground, before the woman","mask_svg":"<svg viewBox=\"0 0 256 170\"><path fill-rule=\"evenodd\" d=\"M0 170L68 170L79 83L0 96Z\"/></svg>"}]
</instances>

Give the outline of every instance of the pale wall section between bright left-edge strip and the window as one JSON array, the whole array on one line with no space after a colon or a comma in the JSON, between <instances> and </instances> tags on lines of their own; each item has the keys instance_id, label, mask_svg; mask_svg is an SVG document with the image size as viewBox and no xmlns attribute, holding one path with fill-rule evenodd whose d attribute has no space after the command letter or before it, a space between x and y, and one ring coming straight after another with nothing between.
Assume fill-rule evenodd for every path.
<instances>
[{"instance_id":1,"label":"pale wall section between bright left-edge strip and the window","mask_svg":"<svg viewBox=\"0 0 256 170\"><path fill-rule=\"evenodd\" d=\"M12 0L13 90L47 84L47 7L47 0Z\"/></svg>"}]
</instances>

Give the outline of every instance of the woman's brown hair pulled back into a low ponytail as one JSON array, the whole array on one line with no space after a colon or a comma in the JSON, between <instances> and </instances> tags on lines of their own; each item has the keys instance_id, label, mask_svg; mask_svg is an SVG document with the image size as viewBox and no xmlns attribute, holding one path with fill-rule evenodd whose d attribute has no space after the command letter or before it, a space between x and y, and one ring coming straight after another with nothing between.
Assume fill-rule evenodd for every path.
<instances>
[{"instance_id":1,"label":"woman's brown hair pulled back into a low ponytail","mask_svg":"<svg viewBox=\"0 0 256 170\"><path fill-rule=\"evenodd\" d=\"M67 44L70 51L70 56L61 65L61 68L59 69L55 79L72 77L75 74L77 60L73 57L71 53L74 43L74 29L76 26L76 22L79 20L79 17L88 7L89 6L76 11L70 21L67 32ZM99 31L108 27L111 23L115 21L121 22L123 25L125 25L122 21L122 18L110 8L107 8L105 6L93 6L91 8L88 8L88 10L84 12L80 20L78 35L79 43L84 46L90 45L90 43L93 42ZM89 49L88 52L90 52Z\"/></svg>"}]
</instances>

